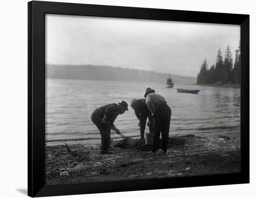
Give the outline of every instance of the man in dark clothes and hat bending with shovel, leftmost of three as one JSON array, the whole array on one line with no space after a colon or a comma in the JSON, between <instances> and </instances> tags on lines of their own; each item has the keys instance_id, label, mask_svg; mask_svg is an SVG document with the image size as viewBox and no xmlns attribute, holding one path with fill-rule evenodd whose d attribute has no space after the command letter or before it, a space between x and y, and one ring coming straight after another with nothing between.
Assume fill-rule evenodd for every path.
<instances>
[{"instance_id":1,"label":"man in dark clothes and hat bending with shovel, leftmost of three","mask_svg":"<svg viewBox=\"0 0 256 198\"><path fill-rule=\"evenodd\" d=\"M106 104L94 110L91 115L91 120L96 125L101 133L101 154L112 154L108 151L110 143L111 128L117 134L120 134L118 128L115 127L114 121L116 117L128 111L128 104L125 101L118 104Z\"/></svg>"}]
</instances>

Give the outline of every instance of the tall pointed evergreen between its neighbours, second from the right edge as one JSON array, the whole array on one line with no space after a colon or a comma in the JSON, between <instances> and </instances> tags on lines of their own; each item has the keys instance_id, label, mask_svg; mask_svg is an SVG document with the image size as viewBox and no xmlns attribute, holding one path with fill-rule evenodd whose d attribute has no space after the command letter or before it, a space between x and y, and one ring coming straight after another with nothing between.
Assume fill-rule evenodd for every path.
<instances>
[{"instance_id":1,"label":"tall pointed evergreen between its neighbours, second from the right edge","mask_svg":"<svg viewBox=\"0 0 256 198\"><path fill-rule=\"evenodd\" d=\"M223 64L222 83L227 84L233 80L232 70L233 70L233 59L232 59L232 54L228 45L225 53L224 64Z\"/></svg>"}]
</instances>

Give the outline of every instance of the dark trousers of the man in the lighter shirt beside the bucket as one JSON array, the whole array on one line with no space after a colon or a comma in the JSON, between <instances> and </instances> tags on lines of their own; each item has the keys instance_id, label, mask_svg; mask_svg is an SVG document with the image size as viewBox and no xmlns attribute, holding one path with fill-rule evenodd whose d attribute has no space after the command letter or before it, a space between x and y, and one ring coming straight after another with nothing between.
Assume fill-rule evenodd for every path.
<instances>
[{"instance_id":1,"label":"dark trousers of the man in the lighter shirt beside the bucket","mask_svg":"<svg viewBox=\"0 0 256 198\"><path fill-rule=\"evenodd\" d=\"M159 149L160 134L162 135L162 149L167 149L171 109L166 103L156 105L153 116L153 151Z\"/></svg>"}]
</instances>

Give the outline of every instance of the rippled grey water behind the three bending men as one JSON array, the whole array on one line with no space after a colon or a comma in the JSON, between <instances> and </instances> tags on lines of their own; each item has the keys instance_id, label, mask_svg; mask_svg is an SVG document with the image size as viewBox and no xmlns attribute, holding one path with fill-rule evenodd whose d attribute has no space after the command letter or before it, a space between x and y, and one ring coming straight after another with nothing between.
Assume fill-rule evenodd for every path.
<instances>
[{"instance_id":1,"label":"rippled grey water behind the three bending men","mask_svg":"<svg viewBox=\"0 0 256 198\"><path fill-rule=\"evenodd\" d=\"M162 83L47 79L47 143L99 142L99 131L90 119L95 107L122 100L130 104L133 98L143 98L147 87L164 96L172 109L170 134L240 129L240 89L175 84L201 90L194 95L177 93ZM138 120L128 109L116 118L115 126L126 136L139 137ZM120 136L112 132L111 137Z\"/></svg>"}]
</instances>

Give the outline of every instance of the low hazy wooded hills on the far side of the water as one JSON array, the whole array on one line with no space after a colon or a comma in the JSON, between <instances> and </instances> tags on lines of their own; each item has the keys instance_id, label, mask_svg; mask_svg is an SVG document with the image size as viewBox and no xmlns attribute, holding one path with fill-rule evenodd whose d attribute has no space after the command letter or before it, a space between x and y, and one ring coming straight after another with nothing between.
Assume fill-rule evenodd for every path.
<instances>
[{"instance_id":1,"label":"low hazy wooded hills on the far side of the water","mask_svg":"<svg viewBox=\"0 0 256 198\"><path fill-rule=\"evenodd\" d=\"M99 65L56 65L47 66L47 78L80 79L80 80L111 80L132 82L162 82L168 78L167 73L155 71L125 69L121 67L99 66ZM174 83L196 83L196 77L184 77L171 74Z\"/></svg>"}]
</instances>

